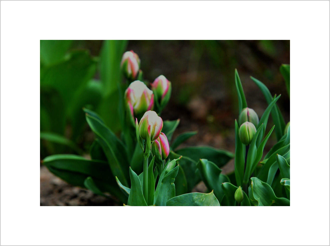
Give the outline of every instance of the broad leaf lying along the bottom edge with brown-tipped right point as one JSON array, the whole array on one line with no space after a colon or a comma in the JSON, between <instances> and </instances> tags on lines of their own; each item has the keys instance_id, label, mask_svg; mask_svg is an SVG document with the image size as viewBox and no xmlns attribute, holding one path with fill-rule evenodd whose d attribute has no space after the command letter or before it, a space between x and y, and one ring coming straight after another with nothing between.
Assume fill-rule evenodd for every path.
<instances>
[{"instance_id":1,"label":"broad leaf lying along the bottom edge with brown-tipped right point","mask_svg":"<svg viewBox=\"0 0 330 246\"><path fill-rule=\"evenodd\" d=\"M210 193L187 193L167 201L166 206L220 206L213 191Z\"/></svg>"}]
</instances>

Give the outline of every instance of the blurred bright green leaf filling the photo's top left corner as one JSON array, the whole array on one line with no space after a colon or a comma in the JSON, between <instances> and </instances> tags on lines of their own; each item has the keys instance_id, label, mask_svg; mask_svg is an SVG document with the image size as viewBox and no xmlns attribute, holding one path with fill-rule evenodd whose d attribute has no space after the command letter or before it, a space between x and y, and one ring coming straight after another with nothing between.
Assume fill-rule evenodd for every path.
<instances>
[{"instance_id":1,"label":"blurred bright green leaf filling the photo's top left corner","mask_svg":"<svg viewBox=\"0 0 330 246\"><path fill-rule=\"evenodd\" d=\"M40 62L45 66L61 62L73 40L40 40Z\"/></svg>"}]
</instances>

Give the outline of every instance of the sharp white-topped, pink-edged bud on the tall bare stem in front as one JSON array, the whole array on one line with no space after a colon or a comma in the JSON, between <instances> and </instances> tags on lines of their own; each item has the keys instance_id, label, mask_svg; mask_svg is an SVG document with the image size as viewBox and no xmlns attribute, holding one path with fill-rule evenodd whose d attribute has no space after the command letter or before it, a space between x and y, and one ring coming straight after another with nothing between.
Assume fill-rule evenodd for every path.
<instances>
[{"instance_id":1,"label":"sharp white-topped, pink-edged bud on the tall bare stem in front","mask_svg":"<svg viewBox=\"0 0 330 246\"><path fill-rule=\"evenodd\" d=\"M160 132L163 129L163 120L160 118L155 111L147 111L142 116L139 123L139 134L143 139L147 139L149 133L148 128L150 127L150 139L154 141L159 137Z\"/></svg>"}]
</instances>

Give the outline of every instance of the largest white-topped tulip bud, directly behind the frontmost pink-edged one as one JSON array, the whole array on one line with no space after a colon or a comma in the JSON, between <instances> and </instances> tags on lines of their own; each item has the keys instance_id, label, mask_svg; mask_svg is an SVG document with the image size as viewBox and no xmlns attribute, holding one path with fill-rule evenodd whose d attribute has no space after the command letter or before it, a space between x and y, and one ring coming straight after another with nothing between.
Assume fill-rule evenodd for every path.
<instances>
[{"instance_id":1,"label":"largest white-topped tulip bud, directly behind the frontmost pink-edged one","mask_svg":"<svg viewBox=\"0 0 330 246\"><path fill-rule=\"evenodd\" d=\"M126 105L133 117L153 109L153 92L143 82L132 82L124 94Z\"/></svg>"}]
</instances>

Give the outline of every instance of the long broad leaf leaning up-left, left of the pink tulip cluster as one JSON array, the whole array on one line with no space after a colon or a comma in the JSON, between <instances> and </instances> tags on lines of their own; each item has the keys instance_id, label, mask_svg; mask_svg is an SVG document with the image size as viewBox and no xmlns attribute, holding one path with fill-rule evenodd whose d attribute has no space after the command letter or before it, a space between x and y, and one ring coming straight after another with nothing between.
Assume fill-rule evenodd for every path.
<instances>
[{"instance_id":1,"label":"long broad leaf leaning up-left, left of the pink tulip cluster","mask_svg":"<svg viewBox=\"0 0 330 246\"><path fill-rule=\"evenodd\" d=\"M86 120L94 134L97 136L99 143L107 156L114 176L117 176L122 184L128 186L127 171L129 164L124 145L116 135L97 118L86 114Z\"/></svg>"}]
</instances>

